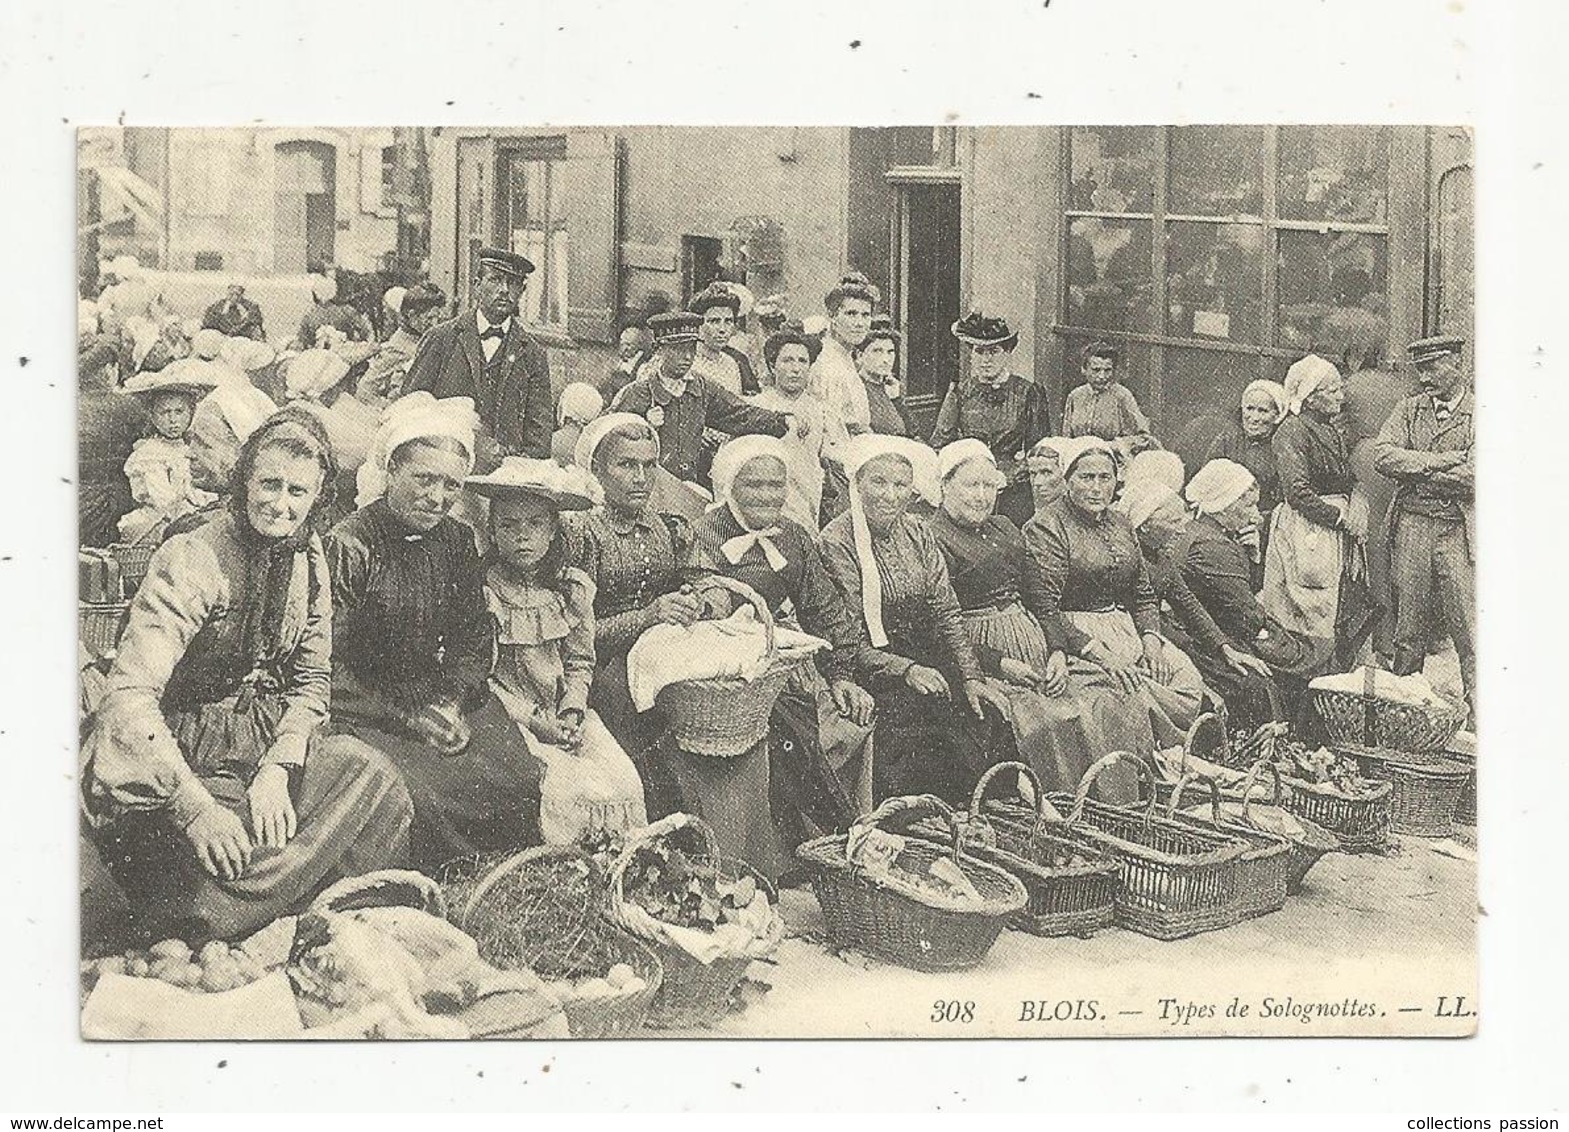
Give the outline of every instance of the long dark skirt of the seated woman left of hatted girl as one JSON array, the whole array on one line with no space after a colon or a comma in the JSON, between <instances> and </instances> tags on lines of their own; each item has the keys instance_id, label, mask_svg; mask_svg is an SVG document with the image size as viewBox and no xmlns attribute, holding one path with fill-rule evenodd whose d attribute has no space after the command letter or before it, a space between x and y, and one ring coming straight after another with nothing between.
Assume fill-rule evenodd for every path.
<instances>
[{"instance_id":1,"label":"long dark skirt of the seated woman left of hatted girl","mask_svg":"<svg viewBox=\"0 0 1569 1132\"><path fill-rule=\"evenodd\" d=\"M543 768L494 696L486 692L477 708L464 711L472 739L450 757L353 707L334 697L333 722L381 750L408 783L416 868L430 871L453 857L540 843Z\"/></svg>"}]
</instances>

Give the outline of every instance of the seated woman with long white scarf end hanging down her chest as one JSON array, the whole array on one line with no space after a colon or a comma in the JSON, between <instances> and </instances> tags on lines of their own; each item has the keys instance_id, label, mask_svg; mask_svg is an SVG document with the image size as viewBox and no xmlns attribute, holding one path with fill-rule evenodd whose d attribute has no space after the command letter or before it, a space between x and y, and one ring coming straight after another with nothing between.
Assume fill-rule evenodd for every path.
<instances>
[{"instance_id":1,"label":"seated woman with long white scarf end hanging down her chest","mask_svg":"<svg viewBox=\"0 0 1569 1132\"><path fill-rule=\"evenodd\" d=\"M899 659L871 689L877 801L934 793L963 802L988 761L985 710L1007 716L1007 697L982 678L943 553L907 513L918 495L937 501L935 465L919 441L854 436L844 463L850 509L822 532L828 571L860 611L869 642Z\"/></svg>"}]
</instances>

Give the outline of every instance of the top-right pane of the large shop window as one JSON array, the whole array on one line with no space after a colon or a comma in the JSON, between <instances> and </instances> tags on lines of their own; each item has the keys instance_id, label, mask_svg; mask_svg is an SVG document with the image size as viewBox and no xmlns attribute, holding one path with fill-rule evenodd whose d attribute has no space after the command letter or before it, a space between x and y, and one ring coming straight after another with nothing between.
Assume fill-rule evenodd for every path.
<instances>
[{"instance_id":1,"label":"top-right pane of the large shop window","mask_svg":"<svg viewBox=\"0 0 1569 1132\"><path fill-rule=\"evenodd\" d=\"M1382 225L1389 217L1389 129L1280 127L1280 217Z\"/></svg>"}]
</instances>

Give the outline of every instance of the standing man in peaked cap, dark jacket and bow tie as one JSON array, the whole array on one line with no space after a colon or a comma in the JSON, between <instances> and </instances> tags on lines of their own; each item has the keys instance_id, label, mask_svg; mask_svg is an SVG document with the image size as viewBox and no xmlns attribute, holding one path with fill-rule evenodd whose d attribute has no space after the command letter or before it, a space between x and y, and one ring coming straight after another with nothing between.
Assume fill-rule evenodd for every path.
<instances>
[{"instance_id":1,"label":"standing man in peaked cap, dark jacket and bow tie","mask_svg":"<svg viewBox=\"0 0 1569 1132\"><path fill-rule=\"evenodd\" d=\"M518 303L533 272L522 256L483 248L474 276L474 309L436 323L419 342L403 391L472 397L483 433L477 463L491 469L504 455L551 454L555 429L551 369L522 330Z\"/></svg>"}]
</instances>

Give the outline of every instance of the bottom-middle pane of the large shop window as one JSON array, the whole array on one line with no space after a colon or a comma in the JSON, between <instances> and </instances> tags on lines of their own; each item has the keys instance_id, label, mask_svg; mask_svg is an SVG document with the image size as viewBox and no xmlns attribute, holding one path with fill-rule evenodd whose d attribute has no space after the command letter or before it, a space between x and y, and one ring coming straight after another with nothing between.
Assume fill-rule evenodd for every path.
<instances>
[{"instance_id":1,"label":"bottom-middle pane of the large shop window","mask_svg":"<svg viewBox=\"0 0 1569 1132\"><path fill-rule=\"evenodd\" d=\"M1261 225L1166 226L1166 333L1258 342L1263 334Z\"/></svg>"}]
</instances>

